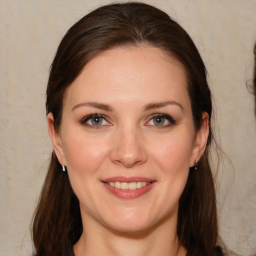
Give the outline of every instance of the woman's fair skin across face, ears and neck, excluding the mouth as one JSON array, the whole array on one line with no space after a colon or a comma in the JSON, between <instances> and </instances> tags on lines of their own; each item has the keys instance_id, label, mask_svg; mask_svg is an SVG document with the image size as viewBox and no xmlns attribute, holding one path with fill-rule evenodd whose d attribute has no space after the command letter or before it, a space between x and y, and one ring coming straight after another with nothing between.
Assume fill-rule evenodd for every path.
<instances>
[{"instance_id":1,"label":"woman's fair skin across face, ears and neck, excluding the mouth","mask_svg":"<svg viewBox=\"0 0 256 256\"><path fill-rule=\"evenodd\" d=\"M47 116L54 151L80 202L76 256L185 255L176 237L178 200L205 149L207 113L202 118L196 132L183 67L159 48L113 48L86 64L64 94L59 132ZM124 199L102 183L114 176L154 183Z\"/></svg>"}]
</instances>

